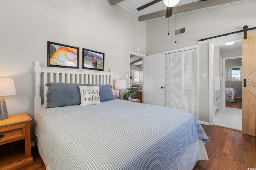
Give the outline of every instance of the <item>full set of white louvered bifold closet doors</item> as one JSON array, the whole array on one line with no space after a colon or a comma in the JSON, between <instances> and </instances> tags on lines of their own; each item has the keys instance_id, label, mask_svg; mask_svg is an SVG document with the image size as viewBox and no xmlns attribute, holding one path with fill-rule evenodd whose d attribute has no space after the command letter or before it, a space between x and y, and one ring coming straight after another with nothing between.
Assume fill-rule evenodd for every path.
<instances>
[{"instance_id":1,"label":"full set of white louvered bifold closet doors","mask_svg":"<svg viewBox=\"0 0 256 170\"><path fill-rule=\"evenodd\" d=\"M165 55L165 106L196 115L195 49ZM169 73L170 72L170 73Z\"/></svg>"}]
</instances>

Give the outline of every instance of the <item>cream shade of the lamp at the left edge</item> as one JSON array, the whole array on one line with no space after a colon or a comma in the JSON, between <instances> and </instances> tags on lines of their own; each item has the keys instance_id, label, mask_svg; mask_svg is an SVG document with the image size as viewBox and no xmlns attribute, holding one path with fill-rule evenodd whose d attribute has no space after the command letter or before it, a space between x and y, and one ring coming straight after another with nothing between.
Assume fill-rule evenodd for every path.
<instances>
[{"instance_id":1,"label":"cream shade of the lamp at the left edge","mask_svg":"<svg viewBox=\"0 0 256 170\"><path fill-rule=\"evenodd\" d=\"M13 78L0 78L0 96L16 94Z\"/></svg>"}]
</instances>

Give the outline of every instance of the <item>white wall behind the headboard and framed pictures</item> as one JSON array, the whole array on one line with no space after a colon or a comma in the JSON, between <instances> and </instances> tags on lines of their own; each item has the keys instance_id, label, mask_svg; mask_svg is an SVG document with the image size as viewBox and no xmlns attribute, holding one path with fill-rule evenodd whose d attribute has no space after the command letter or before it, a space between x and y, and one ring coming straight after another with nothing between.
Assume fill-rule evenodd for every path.
<instances>
[{"instance_id":1,"label":"white wall behind the headboard and framed pictures","mask_svg":"<svg viewBox=\"0 0 256 170\"><path fill-rule=\"evenodd\" d=\"M80 69L82 48L105 53L114 80L129 74L129 51L146 55L146 23L109 0L0 0L0 37L0 76L14 78L17 92L6 96L8 114L32 119L33 66L47 66L47 41L79 47Z\"/></svg>"}]
</instances>

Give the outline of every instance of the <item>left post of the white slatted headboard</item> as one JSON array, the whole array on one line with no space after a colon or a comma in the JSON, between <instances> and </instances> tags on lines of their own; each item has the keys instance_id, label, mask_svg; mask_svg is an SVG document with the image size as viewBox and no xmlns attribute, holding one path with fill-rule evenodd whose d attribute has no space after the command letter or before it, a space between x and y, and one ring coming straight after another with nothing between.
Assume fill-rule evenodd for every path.
<instances>
[{"instance_id":1,"label":"left post of the white slatted headboard","mask_svg":"<svg viewBox=\"0 0 256 170\"><path fill-rule=\"evenodd\" d=\"M34 67L34 72L35 72L35 99L34 99L34 116L36 116L36 112L38 109L41 107L41 96L40 96L40 85L41 85L41 66L40 62L36 61L35 62L35 67Z\"/></svg>"}]
</instances>

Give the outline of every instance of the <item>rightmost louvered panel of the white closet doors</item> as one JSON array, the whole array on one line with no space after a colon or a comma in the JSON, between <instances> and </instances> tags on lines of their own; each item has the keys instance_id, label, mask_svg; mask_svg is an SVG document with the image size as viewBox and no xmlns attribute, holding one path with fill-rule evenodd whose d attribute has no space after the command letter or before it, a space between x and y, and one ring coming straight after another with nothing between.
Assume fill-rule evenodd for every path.
<instances>
[{"instance_id":1,"label":"rightmost louvered panel of the white closet doors","mask_svg":"<svg viewBox=\"0 0 256 170\"><path fill-rule=\"evenodd\" d=\"M183 90L182 109L195 115L196 108L196 68L195 50L187 50L183 53Z\"/></svg>"}]
</instances>

